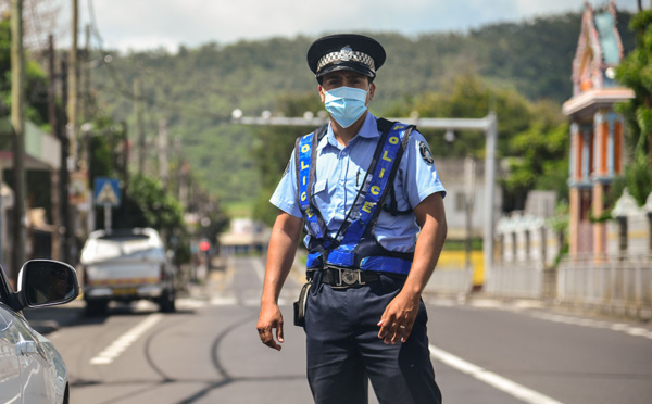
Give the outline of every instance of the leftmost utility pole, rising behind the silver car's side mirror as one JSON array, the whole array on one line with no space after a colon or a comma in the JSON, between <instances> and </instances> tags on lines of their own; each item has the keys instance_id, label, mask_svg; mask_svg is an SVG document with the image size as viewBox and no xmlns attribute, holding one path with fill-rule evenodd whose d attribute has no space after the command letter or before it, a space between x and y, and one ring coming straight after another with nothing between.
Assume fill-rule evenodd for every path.
<instances>
[{"instance_id":1,"label":"leftmost utility pole, rising behind the silver car's side mirror","mask_svg":"<svg viewBox=\"0 0 652 404\"><path fill-rule=\"evenodd\" d=\"M14 237L10 278L16 280L25 262L25 52L23 49L23 0L12 0L11 11L11 125L14 138Z\"/></svg>"}]
</instances>

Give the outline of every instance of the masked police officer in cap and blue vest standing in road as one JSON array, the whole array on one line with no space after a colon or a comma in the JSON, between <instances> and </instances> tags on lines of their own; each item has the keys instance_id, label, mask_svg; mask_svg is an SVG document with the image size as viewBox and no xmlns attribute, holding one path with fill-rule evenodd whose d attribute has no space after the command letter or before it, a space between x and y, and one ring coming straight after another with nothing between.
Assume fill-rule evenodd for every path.
<instances>
[{"instance_id":1,"label":"masked police officer in cap and blue vest standing in road","mask_svg":"<svg viewBox=\"0 0 652 404\"><path fill-rule=\"evenodd\" d=\"M305 229L309 283L296 308L316 403L366 403L369 380L380 403L441 402L421 295L446 239L446 190L423 136L367 111L385 58L360 35L310 47L330 119L297 140L271 199L279 213L259 337L280 351L278 296Z\"/></svg>"}]
</instances>

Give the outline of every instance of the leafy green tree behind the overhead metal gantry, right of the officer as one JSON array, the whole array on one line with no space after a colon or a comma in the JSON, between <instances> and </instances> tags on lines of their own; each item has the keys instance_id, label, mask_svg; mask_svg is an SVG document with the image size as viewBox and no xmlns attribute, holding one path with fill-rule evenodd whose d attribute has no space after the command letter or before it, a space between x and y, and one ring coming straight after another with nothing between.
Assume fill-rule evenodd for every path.
<instances>
[{"instance_id":1,"label":"leafy green tree behind the overhead metal gantry, right of the officer","mask_svg":"<svg viewBox=\"0 0 652 404\"><path fill-rule=\"evenodd\" d=\"M532 103L511 88L491 86L473 72L457 75L441 92L425 92L404 102L393 116L409 111L419 116L480 118L494 111L499 122L500 159L510 161L510 172L502 178L503 210L523 210L532 189L553 189L567 194L567 124L560 108L550 101ZM441 131L422 131L435 155L464 157L485 156L486 136L462 131L447 143Z\"/></svg>"}]
</instances>

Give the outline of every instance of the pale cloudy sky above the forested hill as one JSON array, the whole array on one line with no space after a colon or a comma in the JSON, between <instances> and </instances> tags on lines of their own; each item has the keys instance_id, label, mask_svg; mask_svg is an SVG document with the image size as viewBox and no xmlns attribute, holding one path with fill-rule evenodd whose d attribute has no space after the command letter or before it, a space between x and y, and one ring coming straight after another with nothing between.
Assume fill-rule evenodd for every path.
<instances>
[{"instance_id":1,"label":"pale cloudy sky above the forested hill","mask_svg":"<svg viewBox=\"0 0 652 404\"><path fill-rule=\"evenodd\" d=\"M79 26L97 28L96 46L121 51L208 42L228 45L271 37L336 31L392 31L408 36L457 31L502 22L579 12L585 0L78 0ZM637 10L636 0L616 0ZM647 4L648 0L643 0ZM593 8L607 3L591 0ZM67 14L70 0L62 4ZM83 38L83 35L80 36ZM101 41L100 39L101 38ZM83 39L80 39L83 43Z\"/></svg>"}]
</instances>

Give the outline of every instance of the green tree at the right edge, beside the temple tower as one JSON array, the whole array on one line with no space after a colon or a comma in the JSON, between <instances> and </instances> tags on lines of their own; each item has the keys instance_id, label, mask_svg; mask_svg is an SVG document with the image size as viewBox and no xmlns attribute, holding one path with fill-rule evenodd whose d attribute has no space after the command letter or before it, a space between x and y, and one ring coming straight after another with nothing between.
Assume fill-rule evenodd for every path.
<instances>
[{"instance_id":1,"label":"green tree at the right edge, beside the temple tower","mask_svg":"<svg viewBox=\"0 0 652 404\"><path fill-rule=\"evenodd\" d=\"M619 83L631 88L635 99L620 106L629 124L631 164L625 175L629 191L643 204L651 191L652 179L652 10L641 10L630 28L637 45L616 71Z\"/></svg>"}]
</instances>

